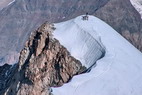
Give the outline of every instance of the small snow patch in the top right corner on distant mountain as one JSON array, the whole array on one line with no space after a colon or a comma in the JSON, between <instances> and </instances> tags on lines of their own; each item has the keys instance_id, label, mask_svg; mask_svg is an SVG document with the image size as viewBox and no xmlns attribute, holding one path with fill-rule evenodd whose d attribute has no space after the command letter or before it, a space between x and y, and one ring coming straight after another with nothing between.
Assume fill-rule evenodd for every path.
<instances>
[{"instance_id":1,"label":"small snow patch in the top right corner on distant mountain","mask_svg":"<svg viewBox=\"0 0 142 95\"><path fill-rule=\"evenodd\" d=\"M140 13L142 18L142 0L130 0L135 9Z\"/></svg>"}]
</instances>

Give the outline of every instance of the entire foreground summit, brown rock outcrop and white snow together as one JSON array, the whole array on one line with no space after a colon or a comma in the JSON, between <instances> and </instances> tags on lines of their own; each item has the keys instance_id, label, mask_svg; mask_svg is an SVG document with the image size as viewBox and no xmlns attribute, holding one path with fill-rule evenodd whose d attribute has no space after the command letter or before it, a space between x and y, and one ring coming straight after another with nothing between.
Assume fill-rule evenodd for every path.
<instances>
[{"instance_id":1,"label":"entire foreground summit, brown rock outcrop and white snow together","mask_svg":"<svg viewBox=\"0 0 142 95\"><path fill-rule=\"evenodd\" d=\"M141 95L141 52L98 18L82 17L32 32L18 64L0 67L0 95Z\"/></svg>"}]
</instances>

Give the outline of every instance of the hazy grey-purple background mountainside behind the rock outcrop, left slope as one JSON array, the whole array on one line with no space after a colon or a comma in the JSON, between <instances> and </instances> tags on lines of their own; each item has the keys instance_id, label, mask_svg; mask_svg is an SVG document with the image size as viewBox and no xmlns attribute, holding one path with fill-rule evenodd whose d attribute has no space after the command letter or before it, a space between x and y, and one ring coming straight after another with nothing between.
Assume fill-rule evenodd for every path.
<instances>
[{"instance_id":1,"label":"hazy grey-purple background mountainside behind the rock outcrop, left slope","mask_svg":"<svg viewBox=\"0 0 142 95\"><path fill-rule=\"evenodd\" d=\"M11 52L18 56L31 31L43 22L65 21L86 12L92 14L107 1L16 0L0 12L0 63L16 63Z\"/></svg>"}]
</instances>

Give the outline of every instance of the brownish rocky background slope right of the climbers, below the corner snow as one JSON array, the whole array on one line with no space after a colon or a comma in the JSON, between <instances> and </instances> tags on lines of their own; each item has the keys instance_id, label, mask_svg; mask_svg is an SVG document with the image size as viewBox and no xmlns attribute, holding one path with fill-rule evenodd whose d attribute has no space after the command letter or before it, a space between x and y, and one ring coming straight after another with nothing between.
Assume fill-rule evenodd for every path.
<instances>
[{"instance_id":1,"label":"brownish rocky background slope right of the climbers, below the corner snow","mask_svg":"<svg viewBox=\"0 0 142 95\"><path fill-rule=\"evenodd\" d=\"M142 51L142 20L130 0L110 0L94 14Z\"/></svg>"}]
</instances>

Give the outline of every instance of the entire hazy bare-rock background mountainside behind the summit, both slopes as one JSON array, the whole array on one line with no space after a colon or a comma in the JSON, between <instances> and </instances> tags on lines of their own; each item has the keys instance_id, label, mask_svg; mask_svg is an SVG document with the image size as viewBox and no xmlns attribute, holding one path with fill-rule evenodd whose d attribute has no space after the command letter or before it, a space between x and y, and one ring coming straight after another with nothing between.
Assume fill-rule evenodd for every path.
<instances>
[{"instance_id":1,"label":"entire hazy bare-rock background mountainside behind the summit, both slopes","mask_svg":"<svg viewBox=\"0 0 142 95\"><path fill-rule=\"evenodd\" d=\"M86 12L142 50L141 17L129 0L15 0L0 12L0 64L17 63L31 31L45 21L66 21Z\"/></svg>"}]
</instances>

